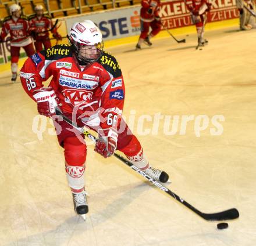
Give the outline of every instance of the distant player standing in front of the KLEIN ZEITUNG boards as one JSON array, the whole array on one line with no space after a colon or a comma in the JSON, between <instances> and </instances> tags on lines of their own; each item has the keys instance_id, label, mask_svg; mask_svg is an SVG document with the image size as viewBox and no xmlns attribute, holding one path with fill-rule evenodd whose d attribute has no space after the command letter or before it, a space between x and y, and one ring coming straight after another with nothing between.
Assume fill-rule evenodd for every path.
<instances>
[{"instance_id":1,"label":"distant player standing in front of the KLEIN ZEITUNG boards","mask_svg":"<svg viewBox=\"0 0 256 246\"><path fill-rule=\"evenodd\" d=\"M211 2L209 0L185 0L185 3L190 11L192 23L197 28L198 46L204 46L208 44L207 39L204 39L204 28L207 12L211 9Z\"/></svg>"}]
</instances>

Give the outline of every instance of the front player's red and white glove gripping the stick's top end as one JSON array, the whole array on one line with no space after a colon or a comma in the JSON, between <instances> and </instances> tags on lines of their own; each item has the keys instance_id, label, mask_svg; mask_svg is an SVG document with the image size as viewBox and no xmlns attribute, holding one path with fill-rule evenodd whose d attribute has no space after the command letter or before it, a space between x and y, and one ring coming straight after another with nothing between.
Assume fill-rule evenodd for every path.
<instances>
[{"instance_id":1,"label":"front player's red and white glove gripping the stick's top end","mask_svg":"<svg viewBox=\"0 0 256 246\"><path fill-rule=\"evenodd\" d=\"M35 90L33 97L37 101L37 111L39 114L48 117L55 115L58 98L52 88L48 87Z\"/></svg>"}]
</instances>

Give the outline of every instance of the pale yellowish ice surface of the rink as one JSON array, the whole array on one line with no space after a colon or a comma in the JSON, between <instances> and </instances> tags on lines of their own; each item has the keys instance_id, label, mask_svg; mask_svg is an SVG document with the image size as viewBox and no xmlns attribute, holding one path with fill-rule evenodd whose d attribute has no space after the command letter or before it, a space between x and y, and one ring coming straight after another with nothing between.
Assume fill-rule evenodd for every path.
<instances>
[{"instance_id":1,"label":"pale yellowish ice surface of the rink","mask_svg":"<svg viewBox=\"0 0 256 246\"><path fill-rule=\"evenodd\" d=\"M129 44L108 52L125 78L127 122L151 165L169 173L167 186L207 213L236 207L239 219L216 229L218 222L201 219L119 160L99 157L88 143L85 223L73 211L62 149L49 134L53 126L43 120L38 129L46 131L38 139L35 103L19 81L11 84L10 73L2 73L0 245L254 245L256 32L236 29L206 32L209 45L202 50L195 50L197 38L190 35L186 44L168 37L152 39L151 48L134 51L136 44ZM141 115L152 120L143 128ZM215 115L225 121L219 122L223 133L214 136ZM177 132L167 135L174 116ZM202 123L205 129L195 131Z\"/></svg>"}]
</instances>

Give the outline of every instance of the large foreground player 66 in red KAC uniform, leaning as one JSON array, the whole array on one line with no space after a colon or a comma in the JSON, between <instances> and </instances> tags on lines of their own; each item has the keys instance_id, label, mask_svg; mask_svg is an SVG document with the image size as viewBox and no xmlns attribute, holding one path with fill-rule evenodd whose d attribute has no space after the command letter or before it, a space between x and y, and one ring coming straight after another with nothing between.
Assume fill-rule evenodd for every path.
<instances>
[{"instance_id":1,"label":"large foreground player 66 in red KAC uniform, leaning","mask_svg":"<svg viewBox=\"0 0 256 246\"><path fill-rule=\"evenodd\" d=\"M29 57L20 77L24 90L37 102L38 113L51 117L58 106L77 125L98 132L95 151L105 158L120 150L138 168L161 182L168 174L150 166L140 142L121 117L125 99L122 71L115 57L104 52L102 34L93 21L75 23L71 45L56 45ZM47 88L42 81L53 75ZM64 149L66 176L77 214L88 212L84 190L86 142L81 133L55 119L59 144ZM71 129L70 129L71 128Z\"/></svg>"}]
</instances>

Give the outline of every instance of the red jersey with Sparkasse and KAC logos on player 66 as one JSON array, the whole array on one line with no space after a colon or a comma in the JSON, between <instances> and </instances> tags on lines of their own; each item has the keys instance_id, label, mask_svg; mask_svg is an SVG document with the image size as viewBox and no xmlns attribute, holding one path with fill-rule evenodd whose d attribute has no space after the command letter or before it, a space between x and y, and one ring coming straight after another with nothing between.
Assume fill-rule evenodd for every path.
<instances>
[{"instance_id":1,"label":"red jersey with Sparkasse and KAC logos on player 66","mask_svg":"<svg viewBox=\"0 0 256 246\"><path fill-rule=\"evenodd\" d=\"M84 68L84 69L83 69ZM30 56L20 70L23 88L33 99L42 82L52 77L51 86L63 112L90 118L101 109L102 118L120 118L125 100L122 71L115 57L103 52L93 64L80 66L70 45L55 45ZM109 128L108 121L100 126Z\"/></svg>"}]
</instances>

